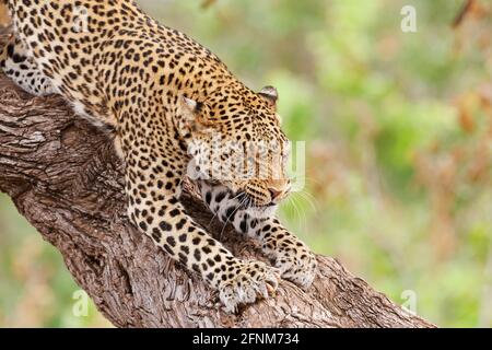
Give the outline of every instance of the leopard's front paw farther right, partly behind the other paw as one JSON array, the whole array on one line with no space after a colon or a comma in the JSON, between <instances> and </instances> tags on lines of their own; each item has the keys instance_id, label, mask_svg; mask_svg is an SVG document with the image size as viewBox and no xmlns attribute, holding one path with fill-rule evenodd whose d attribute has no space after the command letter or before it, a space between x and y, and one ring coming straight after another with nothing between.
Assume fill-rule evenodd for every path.
<instances>
[{"instance_id":1,"label":"leopard's front paw farther right, partly behind the other paw","mask_svg":"<svg viewBox=\"0 0 492 350\"><path fill-rule=\"evenodd\" d=\"M297 246L295 249L279 252L274 266L280 270L283 279L307 290L313 284L318 262L307 247Z\"/></svg>"}]
</instances>

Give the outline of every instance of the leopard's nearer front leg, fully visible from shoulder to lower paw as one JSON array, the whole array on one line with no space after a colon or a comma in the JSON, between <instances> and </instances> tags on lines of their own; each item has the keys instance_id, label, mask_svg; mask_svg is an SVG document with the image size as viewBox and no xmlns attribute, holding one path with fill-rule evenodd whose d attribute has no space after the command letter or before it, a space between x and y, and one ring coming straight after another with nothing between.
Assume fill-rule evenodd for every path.
<instances>
[{"instance_id":1,"label":"leopard's nearer front leg, fully visible from shoulder to lower paw","mask_svg":"<svg viewBox=\"0 0 492 350\"><path fill-rule=\"evenodd\" d=\"M261 261L234 257L186 213L178 199L184 172L177 161L180 158L166 156L145 144L143 138L129 149L129 140L124 139L122 151L132 223L173 259L216 289L227 312L254 303L259 295L272 294L280 278L274 269Z\"/></svg>"}]
</instances>

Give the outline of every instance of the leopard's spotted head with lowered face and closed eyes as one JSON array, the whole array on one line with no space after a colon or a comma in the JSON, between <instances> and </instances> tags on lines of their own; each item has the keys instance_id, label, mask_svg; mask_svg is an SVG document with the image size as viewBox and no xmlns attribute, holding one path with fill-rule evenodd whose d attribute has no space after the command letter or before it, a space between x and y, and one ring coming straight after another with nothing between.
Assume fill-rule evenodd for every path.
<instances>
[{"instance_id":1,"label":"leopard's spotted head with lowered face and closed eyes","mask_svg":"<svg viewBox=\"0 0 492 350\"><path fill-rule=\"evenodd\" d=\"M290 142L280 128L277 101L272 86L255 93L241 83L216 89L207 101L183 97L188 174L225 186L248 209L274 210L291 189L285 172Z\"/></svg>"}]
</instances>

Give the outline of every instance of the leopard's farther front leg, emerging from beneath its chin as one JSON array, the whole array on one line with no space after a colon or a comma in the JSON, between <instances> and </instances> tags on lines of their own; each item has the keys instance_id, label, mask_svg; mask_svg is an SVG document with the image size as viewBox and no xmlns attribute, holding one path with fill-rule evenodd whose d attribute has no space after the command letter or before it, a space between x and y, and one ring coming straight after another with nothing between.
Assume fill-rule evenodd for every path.
<instances>
[{"instance_id":1,"label":"leopard's farther front leg, emerging from beneath its chin","mask_svg":"<svg viewBox=\"0 0 492 350\"><path fill-rule=\"evenodd\" d=\"M239 200L224 186L200 182L201 195L222 222L261 243L262 252L280 269L282 278L307 289L316 275L317 261L307 245L289 232L274 217L260 218L238 207Z\"/></svg>"}]
</instances>

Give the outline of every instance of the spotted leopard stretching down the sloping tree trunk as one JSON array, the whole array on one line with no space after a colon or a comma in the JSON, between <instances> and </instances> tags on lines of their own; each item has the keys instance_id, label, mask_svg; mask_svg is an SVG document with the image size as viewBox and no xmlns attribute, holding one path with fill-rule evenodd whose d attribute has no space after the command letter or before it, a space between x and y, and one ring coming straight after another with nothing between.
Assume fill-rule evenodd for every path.
<instances>
[{"instance_id":1,"label":"spotted leopard stretching down the sloping tree trunk","mask_svg":"<svg viewBox=\"0 0 492 350\"><path fill-rule=\"evenodd\" d=\"M131 0L0 3L13 24L0 69L31 94L61 95L113 135L138 232L198 273L229 313L273 296L281 279L312 285L314 253L277 217L292 179L276 88L247 88L215 54ZM187 178L271 264L235 257L187 213Z\"/></svg>"}]
</instances>

